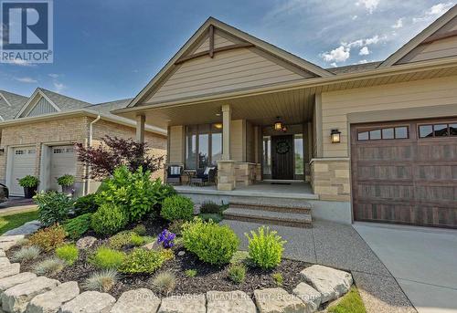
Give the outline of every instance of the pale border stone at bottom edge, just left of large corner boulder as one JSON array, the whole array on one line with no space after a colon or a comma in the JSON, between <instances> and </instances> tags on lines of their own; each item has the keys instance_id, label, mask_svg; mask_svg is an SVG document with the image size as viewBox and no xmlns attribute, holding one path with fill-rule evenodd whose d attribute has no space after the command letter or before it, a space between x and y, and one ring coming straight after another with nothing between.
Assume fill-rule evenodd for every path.
<instances>
[{"instance_id":1,"label":"pale border stone at bottom edge, just left of large corner boulder","mask_svg":"<svg viewBox=\"0 0 457 313\"><path fill-rule=\"evenodd\" d=\"M303 313L305 306L298 297L282 288L266 288L254 291L260 313Z\"/></svg>"}]
</instances>

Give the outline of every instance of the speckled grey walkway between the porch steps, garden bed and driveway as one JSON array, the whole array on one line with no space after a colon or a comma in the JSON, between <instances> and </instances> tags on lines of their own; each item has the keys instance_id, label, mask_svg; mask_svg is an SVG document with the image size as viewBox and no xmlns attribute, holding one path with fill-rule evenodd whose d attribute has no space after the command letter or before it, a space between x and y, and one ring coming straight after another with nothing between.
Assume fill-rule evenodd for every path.
<instances>
[{"instance_id":1,"label":"speckled grey walkway between the porch steps, garden bed and driveway","mask_svg":"<svg viewBox=\"0 0 457 313\"><path fill-rule=\"evenodd\" d=\"M228 220L222 224L230 225L239 235L244 249L248 245L244 234L260 226ZM287 240L285 256L351 271L368 312L416 312L395 278L351 225L314 221L312 228L270 228Z\"/></svg>"}]
</instances>

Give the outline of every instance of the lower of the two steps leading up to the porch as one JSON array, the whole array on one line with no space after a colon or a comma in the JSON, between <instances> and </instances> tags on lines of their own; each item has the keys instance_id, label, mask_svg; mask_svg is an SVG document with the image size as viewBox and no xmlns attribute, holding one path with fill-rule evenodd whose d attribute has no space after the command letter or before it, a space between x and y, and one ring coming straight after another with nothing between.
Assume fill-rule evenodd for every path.
<instances>
[{"instance_id":1,"label":"lower of the two steps leading up to the porch","mask_svg":"<svg viewBox=\"0 0 457 313\"><path fill-rule=\"evenodd\" d=\"M292 227L310 227L312 223L312 217L309 213L274 212L232 206L224 211L224 218L228 220L278 224Z\"/></svg>"}]
</instances>

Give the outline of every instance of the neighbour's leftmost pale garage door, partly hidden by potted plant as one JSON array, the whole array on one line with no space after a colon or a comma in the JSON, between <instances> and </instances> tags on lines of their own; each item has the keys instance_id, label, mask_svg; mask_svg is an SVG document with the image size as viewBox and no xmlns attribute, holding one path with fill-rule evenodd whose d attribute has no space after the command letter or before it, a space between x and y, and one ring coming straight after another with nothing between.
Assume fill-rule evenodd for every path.
<instances>
[{"instance_id":1,"label":"neighbour's leftmost pale garage door, partly hidden by potted plant","mask_svg":"<svg viewBox=\"0 0 457 313\"><path fill-rule=\"evenodd\" d=\"M13 149L10 171L11 181L9 192L12 195L24 195L24 189L17 183L18 179L35 174L37 151L35 147L21 147Z\"/></svg>"}]
</instances>

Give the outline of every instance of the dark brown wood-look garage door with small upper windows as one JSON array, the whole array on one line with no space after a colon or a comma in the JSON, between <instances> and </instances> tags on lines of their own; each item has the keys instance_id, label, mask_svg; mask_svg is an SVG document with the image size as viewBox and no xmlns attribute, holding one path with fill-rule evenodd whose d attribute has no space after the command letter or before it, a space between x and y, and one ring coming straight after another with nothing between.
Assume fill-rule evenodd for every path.
<instances>
[{"instance_id":1,"label":"dark brown wood-look garage door with small upper windows","mask_svg":"<svg viewBox=\"0 0 457 313\"><path fill-rule=\"evenodd\" d=\"M351 127L358 221L457 227L457 118Z\"/></svg>"}]
</instances>

